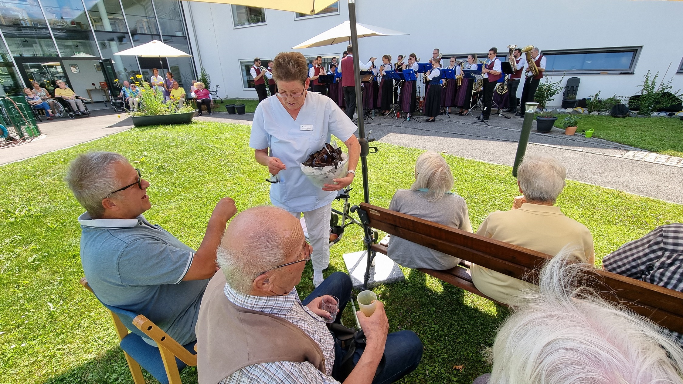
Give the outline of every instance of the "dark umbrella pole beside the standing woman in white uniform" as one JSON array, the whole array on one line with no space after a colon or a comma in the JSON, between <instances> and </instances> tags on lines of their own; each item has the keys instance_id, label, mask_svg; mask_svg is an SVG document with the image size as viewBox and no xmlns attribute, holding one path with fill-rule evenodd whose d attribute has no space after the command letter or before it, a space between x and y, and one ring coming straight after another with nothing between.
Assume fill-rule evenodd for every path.
<instances>
[{"instance_id":1,"label":"dark umbrella pole beside the standing woman in white uniform","mask_svg":"<svg viewBox=\"0 0 683 384\"><path fill-rule=\"evenodd\" d=\"M367 181L367 154L370 153L368 143L374 141L374 138L365 137L365 126L363 121L363 93L361 92L361 68L359 67L359 53L358 53L358 32L356 31L356 3L355 0L348 0L348 20L351 27L351 50L353 55L353 80L356 89L356 113L358 114L358 141L361 144L361 173L363 175L363 200L365 203L370 203L370 190ZM367 280L370 279L370 267L372 259L375 257L375 252L370 250L373 240L372 228L368 225L367 216L363 215L363 211L357 207L359 218L363 223L363 243L365 243L365 254L367 255L367 266L365 267L365 275L363 276L363 289L367 289ZM365 218L363 217L365 216Z\"/></svg>"}]
</instances>

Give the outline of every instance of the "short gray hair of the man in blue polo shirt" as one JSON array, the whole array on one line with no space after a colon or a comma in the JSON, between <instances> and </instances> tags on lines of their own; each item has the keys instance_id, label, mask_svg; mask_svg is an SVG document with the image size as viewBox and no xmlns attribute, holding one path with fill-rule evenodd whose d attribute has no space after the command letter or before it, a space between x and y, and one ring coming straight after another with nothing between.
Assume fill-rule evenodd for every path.
<instances>
[{"instance_id":1,"label":"short gray hair of the man in blue polo shirt","mask_svg":"<svg viewBox=\"0 0 683 384\"><path fill-rule=\"evenodd\" d=\"M120 188L114 171L117 162L128 164L128 159L114 152L88 152L69 164L64 181L91 218L102 217L102 199Z\"/></svg>"}]
</instances>

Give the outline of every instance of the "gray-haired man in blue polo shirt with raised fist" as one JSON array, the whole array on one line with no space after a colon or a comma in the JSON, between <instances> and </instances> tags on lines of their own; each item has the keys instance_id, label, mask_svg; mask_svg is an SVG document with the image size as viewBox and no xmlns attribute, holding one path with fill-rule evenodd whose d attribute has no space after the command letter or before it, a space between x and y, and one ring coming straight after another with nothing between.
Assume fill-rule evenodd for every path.
<instances>
[{"instance_id":1,"label":"gray-haired man in blue polo shirt with raised fist","mask_svg":"<svg viewBox=\"0 0 683 384\"><path fill-rule=\"evenodd\" d=\"M87 209L79 217L81 263L97 298L144 314L180 344L196 340L199 304L217 270L216 250L236 213L234 201L219 201L195 251L142 216L151 207L150 183L124 156L81 154L66 183Z\"/></svg>"}]
</instances>

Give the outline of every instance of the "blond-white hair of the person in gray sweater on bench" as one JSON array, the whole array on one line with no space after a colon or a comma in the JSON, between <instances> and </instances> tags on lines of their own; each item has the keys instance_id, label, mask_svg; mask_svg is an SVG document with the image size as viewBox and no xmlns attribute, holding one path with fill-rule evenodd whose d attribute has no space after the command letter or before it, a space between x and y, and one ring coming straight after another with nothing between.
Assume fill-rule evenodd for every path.
<instances>
[{"instance_id":1,"label":"blond-white hair of the person in gray sweater on bench","mask_svg":"<svg viewBox=\"0 0 683 384\"><path fill-rule=\"evenodd\" d=\"M441 153L426 151L415 162L415 183L410 186L411 191L427 188L422 192L427 201L439 201L446 192L453 189L454 181L451 167L443 159Z\"/></svg>"}]
</instances>

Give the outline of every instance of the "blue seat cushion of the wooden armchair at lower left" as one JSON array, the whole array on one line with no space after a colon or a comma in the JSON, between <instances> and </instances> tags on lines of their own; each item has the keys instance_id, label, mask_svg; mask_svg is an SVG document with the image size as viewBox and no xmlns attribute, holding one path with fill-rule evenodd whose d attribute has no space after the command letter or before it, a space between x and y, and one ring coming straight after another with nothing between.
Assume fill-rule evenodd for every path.
<instances>
[{"instance_id":1,"label":"blue seat cushion of the wooden armchair at lower left","mask_svg":"<svg viewBox=\"0 0 683 384\"><path fill-rule=\"evenodd\" d=\"M190 353L195 354L196 343L196 341L193 341L189 344L185 344L183 347L190 351ZM121 340L121 349L126 351L130 357L133 357L133 359L137 361L137 364L140 364L147 372L150 372L150 374L154 376L154 379L157 379L159 383L169 384L169 379L166 376L166 370L164 368L164 363L161 360L161 353L159 352L158 347L147 344L140 336L131 333ZM178 364L178 372L187 366L180 361L178 357L176 357L176 364Z\"/></svg>"}]
</instances>

